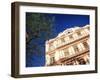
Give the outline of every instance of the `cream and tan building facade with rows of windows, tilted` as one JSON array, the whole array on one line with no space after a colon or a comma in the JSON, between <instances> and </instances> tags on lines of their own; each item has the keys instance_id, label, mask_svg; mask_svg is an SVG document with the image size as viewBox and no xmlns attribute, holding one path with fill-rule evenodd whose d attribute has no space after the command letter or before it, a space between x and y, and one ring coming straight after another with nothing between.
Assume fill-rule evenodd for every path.
<instances>
[{"instance_id":1,"label":"cream and tan building facade with rows of windows, tilted","mask_svg":"<svg viewBox=\"0 0 100 80\"><path fill-rule=\"evenodd\" d=\"M46 66L89 64L89 28L66 29L46 41Z\"/></svg>"}]
</instances>

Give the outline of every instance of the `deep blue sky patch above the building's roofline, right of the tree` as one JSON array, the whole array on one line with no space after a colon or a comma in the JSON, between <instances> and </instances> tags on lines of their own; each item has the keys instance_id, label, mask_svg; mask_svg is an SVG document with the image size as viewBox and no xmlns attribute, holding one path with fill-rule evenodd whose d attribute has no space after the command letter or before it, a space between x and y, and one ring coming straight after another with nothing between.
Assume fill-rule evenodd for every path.
<instances>
[{"instance_id":1,"label":"deep blue sky patch above the building's roofline, right of the tree","mask_svg":"<svg viewBox=\"0 0 100 80\"><path fill-rule=\"evenodd\" d=\"M57 33L74 26L82 27L89 24L88 15L51 14L51 16L55 16L55 28Z\"/></svg>"}]
</instances>

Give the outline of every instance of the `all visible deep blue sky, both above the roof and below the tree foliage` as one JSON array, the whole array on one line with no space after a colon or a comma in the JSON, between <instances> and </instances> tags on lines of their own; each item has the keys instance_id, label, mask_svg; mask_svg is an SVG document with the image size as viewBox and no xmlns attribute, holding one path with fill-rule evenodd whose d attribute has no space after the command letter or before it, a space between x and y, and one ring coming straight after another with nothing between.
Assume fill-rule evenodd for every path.
<instances>
[{"instance_id":1,"label":"all visible deep blue sky, both above the roof and below the tree foliage","mask_svg":"<svg viewBox=\"0 0 100 80\"><path fill-rule=\"evenodd\" d=\"M30 13L27 13L30 14ZM32 14L32 13L31 13ZM43 14L43 13L42 13ZM49 17L55 17L54 21L54 35L57 36L60 32L67 28L72 28L74 26L85 26L90 24L89 15L72 15L72 14L46 14ZM39 43L38 40L33 40L32 43ZM44 44L42 44L44 45ZM31 54L31 56L26 56L26 67L39 67L45 65L45 47L41 47L42 54Z\"/></svg>"}]
</instances>

